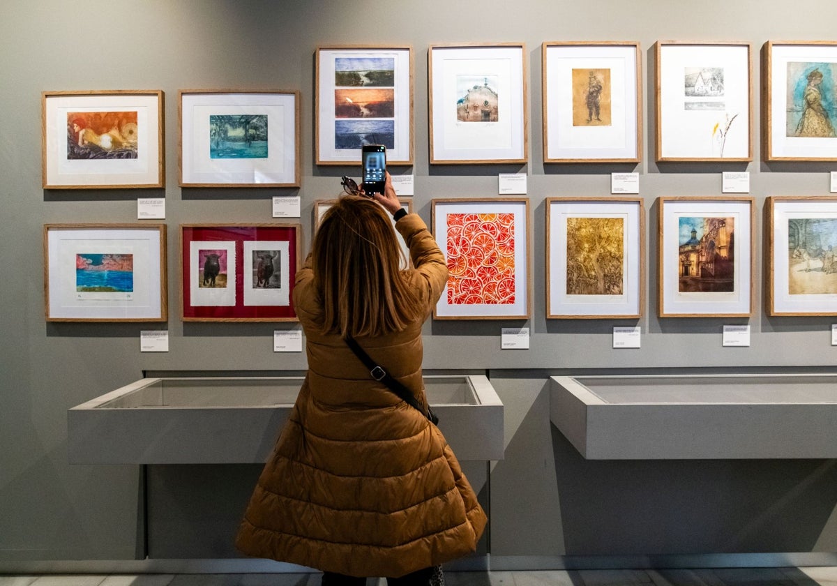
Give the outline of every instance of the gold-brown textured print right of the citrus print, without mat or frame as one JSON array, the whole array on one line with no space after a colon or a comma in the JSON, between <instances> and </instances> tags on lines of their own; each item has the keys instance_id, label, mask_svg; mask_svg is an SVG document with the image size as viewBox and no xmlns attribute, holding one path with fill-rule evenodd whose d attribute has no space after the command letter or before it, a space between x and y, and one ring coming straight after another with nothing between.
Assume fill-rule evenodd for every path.
<instances>
[{"instance_id":1,"label":"gold-brown textured print right of the citrus print, without mat or frame","mask_svg":"<svg viewBox=\"0 0 837 586\"><path fill-rule=\"evenodd\" d=\"M622 295L624 218L567 218L567 295Z\"/></svg>"}]
</instances>

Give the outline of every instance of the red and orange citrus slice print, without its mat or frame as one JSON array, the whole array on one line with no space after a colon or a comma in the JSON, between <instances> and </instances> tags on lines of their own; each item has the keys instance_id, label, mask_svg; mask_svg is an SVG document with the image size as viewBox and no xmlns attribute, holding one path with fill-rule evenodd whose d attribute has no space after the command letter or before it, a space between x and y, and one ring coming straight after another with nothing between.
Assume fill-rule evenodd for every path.
<instances>
[{"instance_id":1,"label":"red and orange citrus slice print, without its mat or frame","mask_svg":"<svg viewBox=\"0 0 837 586\"><path fill-rule=\"evenodd\" d=\"M514 213L449 213L449 305L515 302Z\"/></svg>"}]
</instances>

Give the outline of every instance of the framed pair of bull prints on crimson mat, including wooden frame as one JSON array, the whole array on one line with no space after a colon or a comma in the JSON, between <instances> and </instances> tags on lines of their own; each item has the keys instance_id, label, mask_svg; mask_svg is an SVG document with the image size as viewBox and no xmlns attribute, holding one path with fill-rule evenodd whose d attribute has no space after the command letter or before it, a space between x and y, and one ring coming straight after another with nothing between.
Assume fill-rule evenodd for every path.
<instances>
[{"instance_id":1,"label":"framed pair of bull prints on crimson mat, including wooden frame","mask_svg":"<svg viewBox=\"0 0 837 586\"><path fill-rule=\"evenodd\" d=\"M298 321L299 224L183 224L183 321Z\"/></svg>"}]
</instances>

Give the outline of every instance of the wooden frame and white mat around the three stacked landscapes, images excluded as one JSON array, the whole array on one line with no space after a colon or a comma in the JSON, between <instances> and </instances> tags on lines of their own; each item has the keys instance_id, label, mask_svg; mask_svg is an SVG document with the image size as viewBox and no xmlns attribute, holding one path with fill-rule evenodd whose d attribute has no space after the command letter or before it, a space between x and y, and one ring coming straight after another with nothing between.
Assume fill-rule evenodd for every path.
<instances>
[{"instance_id":1,"label":"wooden frame and white mat around the three stacked landscapes, images excluded","mask_svg":"<svg viewBox=\"0 0 837 586\"><path fill-rule=\"evenodd\" d=\"M361 149L336 148L336 59L392 58L395 62L395 116L393 147L387 148L388 165L413 164L413 48L408 45L322 46L315 54L316 164L355 165Z\"/></svg>"}]
</instances>

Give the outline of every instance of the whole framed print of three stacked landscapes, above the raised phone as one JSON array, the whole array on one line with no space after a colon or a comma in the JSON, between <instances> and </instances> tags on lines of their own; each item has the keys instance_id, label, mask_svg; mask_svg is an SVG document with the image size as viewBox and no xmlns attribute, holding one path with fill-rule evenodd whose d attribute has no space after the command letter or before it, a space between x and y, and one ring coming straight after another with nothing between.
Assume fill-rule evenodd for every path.
<instances>
[{"instance_id":1,"label":"whole framed print of three stacked landscapes, above the raised phone","mask_svg":"<svg viewBox=\"0 0 837 586\"><path fill-rule=\"evenodd\" d=\"M361 146L387 147L388 165L413 164L413 49L316 49L316 164L354 165Z\"/></svg>"}]
</instances>

